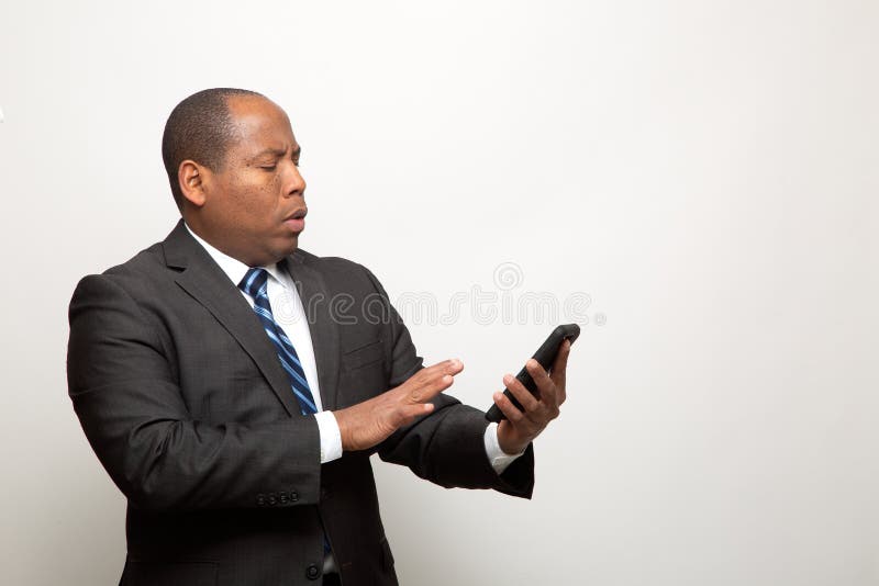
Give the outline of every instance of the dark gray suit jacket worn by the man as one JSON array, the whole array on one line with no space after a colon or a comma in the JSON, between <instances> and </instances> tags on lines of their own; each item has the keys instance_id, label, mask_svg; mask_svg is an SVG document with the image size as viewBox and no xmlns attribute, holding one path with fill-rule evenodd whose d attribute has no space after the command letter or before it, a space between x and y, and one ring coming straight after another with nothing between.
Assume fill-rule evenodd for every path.
<instances>
[{"instance_id":1,"label":"dark gray suit jacket worn by the man","mask_svg":"<svg viewBox=\"0 0 879 586\"><path fill-rule=\"evenodd\" d=\"M367 269L303 250L285 262L325 409L422 368ZM374 451L442 486L531 496L532 449L498 476L482 413L448 395L376 450L321 465L314 418L300 414L256 315L182 222L80 281L67 372L82 429L129 500L125 585L320 584L324 533L345 586L396 584Z\"/></svg>"}]
</instances>

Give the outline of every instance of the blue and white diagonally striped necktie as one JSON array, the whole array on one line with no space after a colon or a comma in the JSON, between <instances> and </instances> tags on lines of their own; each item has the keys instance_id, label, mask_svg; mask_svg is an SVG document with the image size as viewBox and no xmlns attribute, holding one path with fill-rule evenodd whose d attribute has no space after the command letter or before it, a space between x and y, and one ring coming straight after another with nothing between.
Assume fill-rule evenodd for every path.
<instances>
[{"instance_id":1,"label":"blue and white diagonally striped necktie","mask_svg":"<svg viewBox=\"0 0 879 586\"><path fill-rule=\"evenodd\" d=\"M318 407L314 405L314 395L311 394L311 388L309 388L309 382L305 380L305 372L302 370L299 354L296 353L296 348L293 348L290 338L275 322L275 316L271 314L271 305L268 302L268 272L265 269L248 270L247 274L238 283L238 288L253 297L254 312L259 317L268 339L271 340L278 351L281 367L283 367L283 371L290 380L290 386L299 401L302 415L318 413Z\"/></svg>"}]
</instances>

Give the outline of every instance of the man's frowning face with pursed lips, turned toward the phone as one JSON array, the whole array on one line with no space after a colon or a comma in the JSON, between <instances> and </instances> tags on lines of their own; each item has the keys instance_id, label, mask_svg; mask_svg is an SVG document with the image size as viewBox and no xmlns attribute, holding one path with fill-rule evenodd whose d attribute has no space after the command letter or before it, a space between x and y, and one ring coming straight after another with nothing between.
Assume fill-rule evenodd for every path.
<instances>
[{"instance_id":1,"label":"man's frowning face with pursed lips, turned toward the phone","mask_svg":"<svg viewBox=\"0 0 879 586\"><path fill-rule=\"evenodd\" d=\"M257 97L232 97L237 139L218 172L205 170L203 237L226 255L255 267L292 253L305 227L305 181L300 148L287 114Z\"/></svg>"}]
</instances>

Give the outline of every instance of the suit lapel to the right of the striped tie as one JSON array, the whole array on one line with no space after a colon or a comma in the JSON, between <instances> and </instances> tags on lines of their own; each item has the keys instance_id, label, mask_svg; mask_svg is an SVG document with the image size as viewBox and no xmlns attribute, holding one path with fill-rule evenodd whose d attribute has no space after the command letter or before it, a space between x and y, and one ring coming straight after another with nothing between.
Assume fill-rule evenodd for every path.
<instances>
[{"instance_id":1,"label":"suit lapel to the right of the striped tie","mask_svg":"<svg viewBox=\"0 0 879 586\"><path fill-rule=\"evenodd\" d=\"M287 270L299 292L311 333L318 382L324 409L335 409L338 390L338 327L332 315L330 292L323 275L297 250L287 257Z\"/></svg>"}]
</instances>

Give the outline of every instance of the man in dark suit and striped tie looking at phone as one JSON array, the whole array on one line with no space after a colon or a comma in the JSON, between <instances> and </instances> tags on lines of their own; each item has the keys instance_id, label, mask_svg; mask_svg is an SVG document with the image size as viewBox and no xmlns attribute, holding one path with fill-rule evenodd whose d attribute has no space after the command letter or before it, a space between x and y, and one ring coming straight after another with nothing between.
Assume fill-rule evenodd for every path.
<instances>
[{"instance_id":1,"label":"man in dark suit and striped tie looking at phone","mask_svg":"<svg viewBox=\"0 0 879 586\"><path fill-rule=\"evenodd\" d=\"M444 395L376 278L299 249L300 147L231 89L183 100L163 157L181 222L70 303L68 385L129 500L122 584L396 584L369 455L443 486L530 497L531 441L565 398L566 345L524 412ZM342 302L340 302L342 300Z\"/></svg>"}]
</instances>

